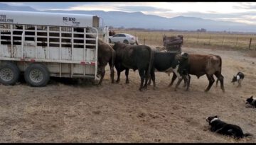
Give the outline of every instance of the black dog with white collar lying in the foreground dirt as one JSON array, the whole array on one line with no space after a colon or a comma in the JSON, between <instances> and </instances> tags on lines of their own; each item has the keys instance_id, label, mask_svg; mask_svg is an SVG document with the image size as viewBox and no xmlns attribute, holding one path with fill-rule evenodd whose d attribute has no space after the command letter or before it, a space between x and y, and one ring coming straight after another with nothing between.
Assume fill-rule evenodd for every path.
<instances>
[{"instance_id":1,"label":"black dog with white collar lying in the foreground dirt","mask_svg":"<svg viewBox=\"0 0 256 145\"><path fill-rule=\"evenodd\" d=\"M206 118L206 121L210 124L210 132L216 132L218 134L233 136L234 138L240 139L252 134L243 134L242 129L235 124L228 124L218 119L218 116L210 116Z\"/></svg>"}]
</instances>

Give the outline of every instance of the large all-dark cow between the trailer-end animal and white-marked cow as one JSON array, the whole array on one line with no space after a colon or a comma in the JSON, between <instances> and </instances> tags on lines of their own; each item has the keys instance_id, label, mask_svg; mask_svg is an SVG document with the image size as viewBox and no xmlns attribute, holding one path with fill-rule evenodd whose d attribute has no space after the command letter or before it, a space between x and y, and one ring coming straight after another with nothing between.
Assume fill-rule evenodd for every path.
<instances>
[{"instance_id":1,"label":"large all-dark cow between the trailer-end animal and white-marked cow","mask_svg":"<svg viewBox=\"0 0 256 145\"><path fill-rule=\"evenodd\" d=\"M116 52L115 66L118 75L117 82L119 81L120 72L124 69L128 69L127 72L129 69L133 69L134 71L138 69L139 76L141 77L139 91L142 91L142 88L146 88L146 82L154 58L154 52L151 48L146 45L127 45L117 42L114 44L113 49ZM146 81L144 84L145 79Z\"/></svg>"}]
</instances>

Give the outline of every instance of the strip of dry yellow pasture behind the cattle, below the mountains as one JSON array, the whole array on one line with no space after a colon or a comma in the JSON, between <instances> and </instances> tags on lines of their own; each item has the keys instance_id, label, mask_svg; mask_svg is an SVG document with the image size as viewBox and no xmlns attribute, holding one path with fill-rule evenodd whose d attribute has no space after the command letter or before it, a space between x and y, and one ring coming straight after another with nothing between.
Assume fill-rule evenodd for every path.
<instances>
[{"instance_id":1,"label":"strip of dry yellow pasture behind the cattle, below the mountains","mask_svg":"<svg viewBox=\"0 0 256 145\"><path fill-rule=\"evenodd\" d=\"M139 37L143 45L163 45L163 36L183 35L183 45L204 47L232 47L243 50L256 50L256 35L233 33L198 33L198 32L155 32L135 30L114 30L116 33L129 33Z\"/></svg>"}]
</instances>

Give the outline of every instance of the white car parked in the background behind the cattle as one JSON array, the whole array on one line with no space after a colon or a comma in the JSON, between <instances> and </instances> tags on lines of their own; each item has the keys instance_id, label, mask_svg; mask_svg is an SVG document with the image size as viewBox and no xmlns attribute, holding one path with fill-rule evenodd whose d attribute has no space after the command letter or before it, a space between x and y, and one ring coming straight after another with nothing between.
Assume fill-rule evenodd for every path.
<instances>
[{"instance_id":1,"label":"white car parked in the background behind the cattle","mask_svg":"<svg viewBox=\"0 0 256 145\"><path fill-rule=\"evenodd\" d=\"M138 43L137 37L127 34L127 33L118 33L118 34L110 36L109 38L110 38L109 39L110 43L111 42L123 42L123 43L131 44L131 45L134 45L136 42Z\"/></svg>"}]
</instances>

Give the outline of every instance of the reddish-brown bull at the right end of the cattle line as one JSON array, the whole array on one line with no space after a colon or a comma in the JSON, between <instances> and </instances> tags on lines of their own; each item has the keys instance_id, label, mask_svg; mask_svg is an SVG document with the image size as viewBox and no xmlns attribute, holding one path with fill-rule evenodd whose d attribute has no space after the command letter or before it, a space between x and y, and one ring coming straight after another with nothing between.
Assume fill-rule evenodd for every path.
<instances>
[{"instance_id":1,"label":"reddish-brown bull at the right end of the cattle line","mask_svg":"<svg viewBox=\"0 0 256 145\"><path fill-rule=\"evenodd\" d=\"M206 88L206 92L210 90L210 87L213 86L214 78L213 75L217 77L217 79L220 81L220 88L223 92L225 92L223 81L224 77L221 74L221 66L222 66L222 59L218 55L208 54L208 55L202 55L202 54L189 54L188 55L188 61L181 62L180 67L186 73L192 74L200 78L200 76L203 76L206 74L209 84ZM173 78L171 79L171 83L169 86L171 86L176 79L176 75L174 74ZM190 79L190 76L189 76ZM182 79L178 80L177 85L181 83ZM190 81L188 81L190 82ZM187 84L189 87L189 83Z\"/></svg>"}]
</instances>

